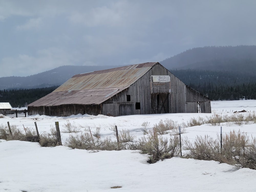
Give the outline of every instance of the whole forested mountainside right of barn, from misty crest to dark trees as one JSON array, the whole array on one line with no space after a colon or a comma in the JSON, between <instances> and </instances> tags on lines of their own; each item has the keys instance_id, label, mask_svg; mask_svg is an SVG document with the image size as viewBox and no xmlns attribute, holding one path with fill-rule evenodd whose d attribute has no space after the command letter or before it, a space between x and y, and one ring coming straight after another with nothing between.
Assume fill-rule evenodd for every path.
<instances>
[{"instance_id":1,"label":"whole forested mountainside right of barn, from misty crest to dark trees","mask_svg":"<svg viewBox=\"0 0 256 192\"><path fill-rule=\"evenodd\" d=\"M161 64L211 100L256 99L254 45L193 48Z\"/></svg>"}]
</instances>

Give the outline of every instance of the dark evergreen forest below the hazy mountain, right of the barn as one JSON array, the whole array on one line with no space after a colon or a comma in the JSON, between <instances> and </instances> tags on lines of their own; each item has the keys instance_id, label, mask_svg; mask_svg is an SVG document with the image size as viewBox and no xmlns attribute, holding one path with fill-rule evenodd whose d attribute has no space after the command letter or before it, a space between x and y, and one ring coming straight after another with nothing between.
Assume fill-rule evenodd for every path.
<instances>
[{"instance_id":1,"label":"dark evergreen forest below the hazy mountain, right of the barn","mask_svg":"<svg viewBox=\"0 0 256 192\"><path fill-rule=\"evenodd\" d=\"M248 73L191 69L171 72L211 100L256 99L256 79Z\"/></svg>"}]
</instances>

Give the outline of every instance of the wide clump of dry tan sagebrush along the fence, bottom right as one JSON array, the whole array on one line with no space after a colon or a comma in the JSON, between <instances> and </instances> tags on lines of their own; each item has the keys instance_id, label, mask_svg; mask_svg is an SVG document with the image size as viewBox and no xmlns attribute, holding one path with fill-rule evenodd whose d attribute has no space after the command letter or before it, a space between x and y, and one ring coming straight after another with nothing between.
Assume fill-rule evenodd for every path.
<instances>
[{"instance_id":1,"label":"wide clump of dry tan sagebrush along the fence, bottom right","mask_svg":"<svg viewBox=\"0 0 256 192\"><path fill-rule=\"evenodd\" d=\"M256 139L245 133L230 131L222 136L222 148L220 149L220 135L213 140L208 135L197 136L194 142L185 140L184 149L188 150L186 158L200 160L215 160L220 163L228 163L239 167L256 169Z\"/></svg>"}]
</instances>

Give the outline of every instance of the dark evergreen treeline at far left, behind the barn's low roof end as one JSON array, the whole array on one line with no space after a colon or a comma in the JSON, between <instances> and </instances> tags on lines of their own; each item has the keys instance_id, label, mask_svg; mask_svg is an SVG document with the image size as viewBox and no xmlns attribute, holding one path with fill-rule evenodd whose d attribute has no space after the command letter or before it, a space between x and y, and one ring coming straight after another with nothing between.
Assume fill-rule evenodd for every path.
<instances>
[{"instance_id":1,"label":"dark evergreen treeline at far left, behind the barn's low roof end","mask_svg":"<svg viewBox=\"0 0 256 192\"><path fill-rule=\"evenodd\" d=\"M0 102L9 102L12 107L24 107L51 93L57 87L0 90Z\"/></svg>"}]
</instances>

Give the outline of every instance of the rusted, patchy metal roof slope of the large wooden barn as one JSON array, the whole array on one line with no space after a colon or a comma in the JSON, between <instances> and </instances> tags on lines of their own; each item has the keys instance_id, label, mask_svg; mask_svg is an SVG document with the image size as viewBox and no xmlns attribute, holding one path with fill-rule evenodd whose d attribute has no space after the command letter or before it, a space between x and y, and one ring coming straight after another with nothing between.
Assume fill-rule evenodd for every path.
<instances>
[{"instance_id":1,"label":"rusted, patchy metal roof slope of the large wooden barn","mask_svg":"<svg viewBox=\"0 0 256 192\"><path fill-rule=\"evenodd\" d=\"M28 106L100 104L128 88L156 63L141 63L74 75L52 93Z\"/></svg>"}]
</instances>

